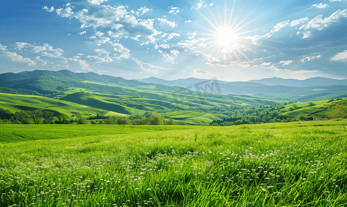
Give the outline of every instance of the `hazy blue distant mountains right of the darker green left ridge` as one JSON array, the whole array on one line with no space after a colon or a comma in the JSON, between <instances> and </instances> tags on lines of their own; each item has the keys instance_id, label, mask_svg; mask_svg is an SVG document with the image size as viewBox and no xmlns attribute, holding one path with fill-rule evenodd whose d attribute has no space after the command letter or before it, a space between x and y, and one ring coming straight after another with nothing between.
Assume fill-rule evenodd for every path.
<instances>
[{"instance_id":1,"label":"hazy blue distant mountains right of the darker green left ridge","mask_svg":"<svg viewBox=\"0 0 347 207\"><path fill-rule=\"evenodd\" d=\"M141 79L143 83L155 83L165 86L178 86L200 92L221 92L224 95L254 95L272 99L310 101L311 99L329 99L344 97L347 80L310 78L306 80L270 78L252 81L217 81L208 79L177 79L166 81L155 77Z\"/></svg>"}]
</instances>

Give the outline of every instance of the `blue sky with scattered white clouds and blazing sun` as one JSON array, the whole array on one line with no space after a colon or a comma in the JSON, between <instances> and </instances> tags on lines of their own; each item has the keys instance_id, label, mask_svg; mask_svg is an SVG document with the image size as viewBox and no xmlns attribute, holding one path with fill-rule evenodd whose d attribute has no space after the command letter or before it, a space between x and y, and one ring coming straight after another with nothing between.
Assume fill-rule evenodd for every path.
<instances>
[{"instance_id":1,"label":"blue sky with scattered white clouds and blazing sun","mask_svg":"<svg viewBox=\"0 0 347 207\"><path fill-rule=\"evenodd\" d=\"M26 0L0 8L0 73L347 79L347 0Z\"/></svg>"}]
</instances>

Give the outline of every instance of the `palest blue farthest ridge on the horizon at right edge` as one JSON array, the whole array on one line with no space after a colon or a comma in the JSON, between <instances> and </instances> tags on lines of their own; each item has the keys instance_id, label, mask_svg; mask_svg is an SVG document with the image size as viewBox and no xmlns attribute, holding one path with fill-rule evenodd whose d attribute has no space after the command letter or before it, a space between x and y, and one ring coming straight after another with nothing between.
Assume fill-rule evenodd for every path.
<instances>
[{"instance_id":1,"label":"palest blue farthest ridge on the horizon at right edge","mask_svg":"<svg viewBox=\"0 0 347 207\"><path fill-rule=\"evenodd\" d=\"M267 86L291 86L291 87L313 87L313 86L346 86L347 79L337 80L337 79L327 79L323 77L314 77L305 80L297 79L281 79L277 77L261 80L248 81L251 83L261 83Z\"/></svg>"}]
</instances>

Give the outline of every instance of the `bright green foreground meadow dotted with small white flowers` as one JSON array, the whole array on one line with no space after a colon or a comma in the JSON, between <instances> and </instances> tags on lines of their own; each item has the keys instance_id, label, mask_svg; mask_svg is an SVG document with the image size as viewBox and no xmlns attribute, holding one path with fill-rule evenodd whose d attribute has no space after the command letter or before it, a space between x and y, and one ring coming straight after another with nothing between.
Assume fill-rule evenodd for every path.
<instances>
[{"instance_id":1,"label":"bright green foreground meadow dotted with small white flowers","mask_svg":"<svg viewBox=\"0 0 347 207\"><path fill-rule=\"evenodd\" d=\"M346 206L346 125L2 142L0 206Z\"/></svg>"}]
</instances>

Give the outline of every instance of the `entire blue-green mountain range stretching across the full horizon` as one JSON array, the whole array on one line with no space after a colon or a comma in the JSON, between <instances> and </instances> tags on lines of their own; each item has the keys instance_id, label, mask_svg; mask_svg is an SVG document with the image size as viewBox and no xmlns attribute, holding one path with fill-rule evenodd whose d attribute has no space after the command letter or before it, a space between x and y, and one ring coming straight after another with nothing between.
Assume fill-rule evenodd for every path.
<instances>
[{"instance_id":1,"label":"entire blue-green mountain range stretching across the full horizon","mask_svg":"<svg viewBox=\"0 0 347 207\"><path fill-rule=\"evenodd\" d=\"M53 96L63 88L85 88L95 92L108 92L127 95L126 88L110 88L102 84L88 84L86 81L110 84L141 90L174 92L192 90L223 95L250 95L278 100L317 101L321 99L347 97L347 80L322 77L306 80L270 78L252 81L219 81L217 79L177 79L166 81L155 77L141 80L127 80L110 75L98 75L94 72L75 73L70 70L33 70L19 73L0 74L0 92L17 90L17 93ZM153 85L155 84L155 86ZM173 87L172 86L176 86ZM179 87L179 88L177 88ZM11 90L10 90L10 89ZM181 89L180 89L181 88ZM13 91L12 91L13 92Z\"/></svg>"}]
</instances>

